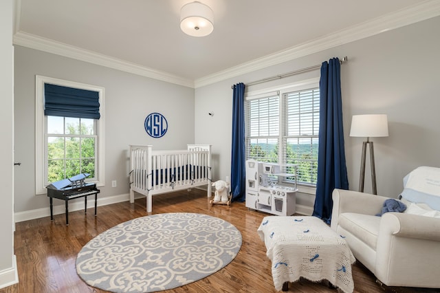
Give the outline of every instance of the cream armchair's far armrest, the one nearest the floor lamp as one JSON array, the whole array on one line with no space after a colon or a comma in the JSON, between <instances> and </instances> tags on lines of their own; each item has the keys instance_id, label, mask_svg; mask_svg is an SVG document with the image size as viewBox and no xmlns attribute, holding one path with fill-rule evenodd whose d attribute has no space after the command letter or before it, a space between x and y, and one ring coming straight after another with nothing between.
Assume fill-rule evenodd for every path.
<instances>
[{"instance_id":1,"label":"cream armchair's far armrest, the one nearest the floor lamp","mask_svg":"<svg viewBox=\"0 0 440 293\"><path fill-rule=\"evenodd\" d=\"M333 230L338 227L338 218L341 213L376 215L382 210L385 200L390 198L337 188L333 190L332 197L331 228Z\"/></svg>"}]
</instances>

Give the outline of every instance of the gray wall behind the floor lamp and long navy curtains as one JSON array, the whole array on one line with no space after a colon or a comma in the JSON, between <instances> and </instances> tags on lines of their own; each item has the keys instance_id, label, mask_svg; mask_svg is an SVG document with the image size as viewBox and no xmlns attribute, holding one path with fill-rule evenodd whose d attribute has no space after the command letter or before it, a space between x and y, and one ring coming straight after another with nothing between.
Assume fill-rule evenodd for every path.
<instances>
[{"instance_id":1,"label":"gray wall behind the floor lamp and long navy curtains","mask_svg":"<svg viewBox=\"0 0 440 293\"><path fill-rule=\"evenodd\" d=\"M417 166L440 166L440 17L383 32L360 41L333 47L293 61L207 85L195 91L195 142L209 141L219 154L213 180L230 174L232 90L235 83L292 72L348 56L341 67L344 138L349 188L358 190L362 138L350 138L351 116L388 114L388 138L375 144L377 192L397 197L402 178ZM250 86L254 91L320 75L298 74L271 83ZM215 116L208 116L214 111ZM367 157L367 160L369 158ZM371 192L369 167L365 192ZM313 206L314 197L299 195L300 204Z\"/></svg>"}]
</instances>

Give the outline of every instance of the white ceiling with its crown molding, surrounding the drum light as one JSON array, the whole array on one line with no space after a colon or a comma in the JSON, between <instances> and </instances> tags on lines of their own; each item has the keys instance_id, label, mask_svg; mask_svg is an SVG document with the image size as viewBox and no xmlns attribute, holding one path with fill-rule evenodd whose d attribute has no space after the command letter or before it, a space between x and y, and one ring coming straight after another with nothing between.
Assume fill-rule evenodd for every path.
<instances>
[{"instance_id":1,"label":"white ceiling with its crown molding, surrounding the drum light","mask_svg":"<svg viewBox=\"0 0 440 293\"><path fill-rule=\"evenodd\" d=\"M214 11L214 31L201 38L179 28L192 0L17 0L14 43L194 85L347 32L440 14L439 0L199 1Z\"/></svg>"}]
</instances>

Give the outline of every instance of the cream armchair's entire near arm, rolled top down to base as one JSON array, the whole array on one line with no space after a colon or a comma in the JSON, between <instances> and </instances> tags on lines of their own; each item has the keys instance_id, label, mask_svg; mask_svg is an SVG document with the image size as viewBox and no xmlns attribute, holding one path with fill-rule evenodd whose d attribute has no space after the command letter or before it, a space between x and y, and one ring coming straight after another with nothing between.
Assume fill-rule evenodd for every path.
<instances>
[{"instance_id":1,"label":"cream armchair's entire near arm, rolled top down to base","mask_svg":"<svg viewBox=\"0 0 440 293\"><path fill-rule=\"evenodd\" d=\"M438 287L439 231L438 218L382 215L376 248L377 279L389 286Z\"/></svg>"}]
</instances>

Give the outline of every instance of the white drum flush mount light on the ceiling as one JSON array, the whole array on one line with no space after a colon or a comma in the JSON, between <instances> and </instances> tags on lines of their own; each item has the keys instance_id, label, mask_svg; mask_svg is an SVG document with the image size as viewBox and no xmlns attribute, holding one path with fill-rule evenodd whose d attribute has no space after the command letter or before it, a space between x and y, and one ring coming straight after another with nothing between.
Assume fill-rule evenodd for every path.
<instances>
[{"instance_id":1,"label":"white drum flush mount light on the ceiling","mask_svg":"<svg viewBox=\"0 0 440 293\"><path fill-rule=\"evenodd\" d=\"M180 11L180 28L190 36L208 36L214 30L214 12L203 3L188 3Z\"/></svg>"}]
</instances>

